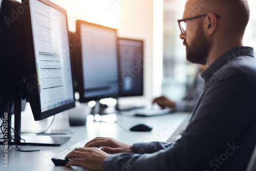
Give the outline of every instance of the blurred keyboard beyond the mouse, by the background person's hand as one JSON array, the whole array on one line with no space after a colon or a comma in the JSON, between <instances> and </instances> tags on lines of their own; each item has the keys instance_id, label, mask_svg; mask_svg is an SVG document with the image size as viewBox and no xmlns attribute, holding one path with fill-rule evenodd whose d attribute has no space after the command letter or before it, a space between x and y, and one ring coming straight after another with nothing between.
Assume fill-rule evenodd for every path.
<instances>
[{"instance_id":1,"label":"blurred keyboard beyond the mouse, by the background person's hand","mask_svg":"<svg viewBox=\"0 0 256 171\"><path fill-rule=\"evenodd\" d=\"M134 116L142 116L142 117L158 116L158 115L169 114L172 112L173 112L173 109L140 110L140 111L137 111Z\"/></svg>"}]
</instances>

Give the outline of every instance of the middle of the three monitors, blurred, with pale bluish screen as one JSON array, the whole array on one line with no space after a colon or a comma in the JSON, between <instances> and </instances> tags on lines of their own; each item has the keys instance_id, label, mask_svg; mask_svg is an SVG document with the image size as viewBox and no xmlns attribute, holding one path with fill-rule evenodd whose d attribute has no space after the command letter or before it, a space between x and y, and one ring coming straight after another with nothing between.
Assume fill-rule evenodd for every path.
<instances>
[{"instance_id":1,"label":"middle of the three monitors, blurred, with pale bluish screen","mask_svg":"<svg viewBox=\"0 0 256 171\"><path fill-rule=\"evenodd\" d=\"M77 20L81 67L77 79L80 102L118 95L118 57L116 29ZM79 69L79 67L74 67Z\"/></svg>"}]
</instances>

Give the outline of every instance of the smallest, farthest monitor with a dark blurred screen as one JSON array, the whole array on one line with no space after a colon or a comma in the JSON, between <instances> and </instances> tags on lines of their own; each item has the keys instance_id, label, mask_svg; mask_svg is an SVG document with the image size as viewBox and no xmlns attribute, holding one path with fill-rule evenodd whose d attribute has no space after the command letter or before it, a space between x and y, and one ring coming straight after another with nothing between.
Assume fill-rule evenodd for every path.
<instances>
[{"instance_id":1,"label":"smallest, farthest monitor with a dark blurred screen","mask_svg":"<svg viewBox=\"0 0 256 171\"><path fill-rule=\"evenodd\" d=\"M122 89L120 97L143 95L143 41L118 39L120 77Z\"/></svg>"}]
</instances>

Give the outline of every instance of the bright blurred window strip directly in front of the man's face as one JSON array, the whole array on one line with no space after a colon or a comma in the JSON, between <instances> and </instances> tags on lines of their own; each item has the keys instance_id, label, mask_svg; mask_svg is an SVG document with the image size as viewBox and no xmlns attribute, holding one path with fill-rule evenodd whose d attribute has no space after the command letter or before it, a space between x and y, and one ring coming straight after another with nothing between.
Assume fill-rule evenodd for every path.
<instances>
[{"instance_id":1,"label":"bright blurred window strip directly in front of the man's face","mask_svg":"<svg viewBox=\"0 0 256 171\"><path fill-rule=\"evenodd\" d=\"M166 0L163 8L163 85L162 93L181 100L193 83L196 65L187 62L177 19L182 18L186 0Z\"/></svg>"}]
</instances>

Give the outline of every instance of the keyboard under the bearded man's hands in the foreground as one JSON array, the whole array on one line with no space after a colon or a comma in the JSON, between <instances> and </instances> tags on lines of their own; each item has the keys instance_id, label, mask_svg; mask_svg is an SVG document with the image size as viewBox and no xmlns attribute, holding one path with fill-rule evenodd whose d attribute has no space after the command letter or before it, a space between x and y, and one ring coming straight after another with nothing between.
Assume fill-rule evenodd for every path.
<instances>
[{"instance_id":1,"label":"keyboard under the bearded man's hands in the foreground","mask_svg":"<svg viewBox=\"0 0 256 171\"><path fill-rule=\"evenodd\" d=\"M86 142L80 141L72 145L71 147L65 149L65 151L57 154L52 158L53 163L56 166L65 166L71 159L65 160L65 157L72 152L75 148L83 147L86 144Z\"/></svg>"}]
</instances>

